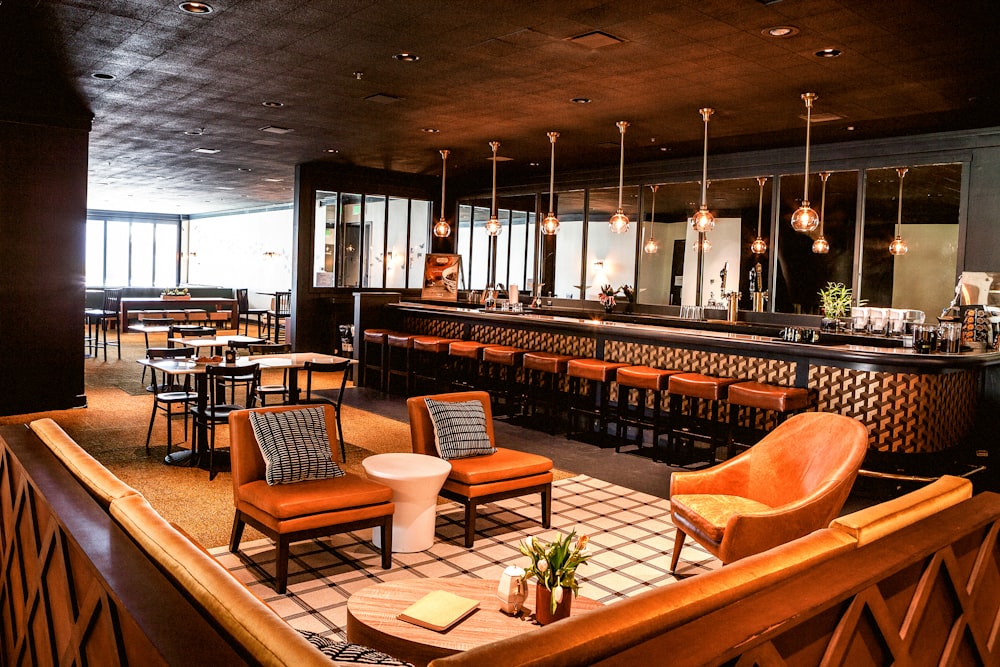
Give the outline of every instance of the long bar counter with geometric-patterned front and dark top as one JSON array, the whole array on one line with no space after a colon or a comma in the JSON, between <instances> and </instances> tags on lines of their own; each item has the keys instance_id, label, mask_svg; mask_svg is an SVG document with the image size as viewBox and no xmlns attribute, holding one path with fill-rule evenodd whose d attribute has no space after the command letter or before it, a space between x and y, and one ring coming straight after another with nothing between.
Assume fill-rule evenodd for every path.
<instances>
[{"instance_id":1,"label":"long bar counter with geometric-patterned front and dark top","mask_svg":"<svg viewBox=\"0 0 1000 667\"><path fill-rule=\"evenodd\" d=\"M684 329L669 318L649 326L406 302L389 308L413 333L808 387L818 410L860 420L869 447L886 453L955 447L972 429L983 370L1000 364L996 352L918 355L899 347L787 343Z\"/></svg>"}]
</instances>

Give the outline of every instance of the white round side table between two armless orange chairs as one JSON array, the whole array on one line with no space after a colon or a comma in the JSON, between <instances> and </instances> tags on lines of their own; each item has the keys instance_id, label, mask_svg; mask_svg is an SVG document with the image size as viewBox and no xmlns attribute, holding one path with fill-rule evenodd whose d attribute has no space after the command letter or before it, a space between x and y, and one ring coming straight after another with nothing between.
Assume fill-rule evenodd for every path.
<instances>
[{"instance_id":1,"label":"white round side table between two armless orange chairs","mask_svg":"<svg viewBox=\"0 0 1000 667\"><path fill-rule=\"evenodd\" d=\"M438 491L451 472L451 464L427 454L408 452L375 454L361 462L369 479L392 489L392 550L411 553L434 544ZM379 530L372 541L382 547Z\"/></svg>"}]
</instances>

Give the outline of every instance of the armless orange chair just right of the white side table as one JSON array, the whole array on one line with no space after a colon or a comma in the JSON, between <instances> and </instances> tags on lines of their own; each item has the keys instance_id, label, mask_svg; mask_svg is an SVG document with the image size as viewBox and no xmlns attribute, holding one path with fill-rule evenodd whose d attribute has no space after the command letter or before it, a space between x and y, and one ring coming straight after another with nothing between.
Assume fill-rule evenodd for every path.
<instances>
[{"instance_id":1,"label":"armless orange chair just right of the white side table","mask_svg":"<svg viewBox=\"0 0 1000 667\"><path fill-rule=\"evenodd\" d=\"M417 454L438 456L434 438L434 423L424 399L436 401L479 401L486 416L486 434L495 443L490 396L484 391L453 392L407 399L410 415L410 437ZM552 524L552 461L544 456L496 447L493 454L452 458L451 474L444 482L441 495L465 506L465 546L471 548L476 537L476 507L484 503L540 493L542 525Z\"/></svg>"}]
</instances>

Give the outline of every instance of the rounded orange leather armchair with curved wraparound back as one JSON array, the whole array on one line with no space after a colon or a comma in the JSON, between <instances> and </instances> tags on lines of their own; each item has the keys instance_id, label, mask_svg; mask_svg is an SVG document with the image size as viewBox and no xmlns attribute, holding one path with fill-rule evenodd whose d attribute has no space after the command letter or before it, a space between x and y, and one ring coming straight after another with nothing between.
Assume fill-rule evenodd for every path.
<instances>
[{"instance_id":1,"label":"rounded orange leather armchair with curved wraparound back","mask_svg":"<svg viewBox=\"0 0 1000 667\"><path fill-rule=\"evenodd\" d=\"M867 447L861 422L806 412L728 461L673 473L670 570L685 536L725 564L825 528L847 500Z\"/></svg>"}]
</instances>

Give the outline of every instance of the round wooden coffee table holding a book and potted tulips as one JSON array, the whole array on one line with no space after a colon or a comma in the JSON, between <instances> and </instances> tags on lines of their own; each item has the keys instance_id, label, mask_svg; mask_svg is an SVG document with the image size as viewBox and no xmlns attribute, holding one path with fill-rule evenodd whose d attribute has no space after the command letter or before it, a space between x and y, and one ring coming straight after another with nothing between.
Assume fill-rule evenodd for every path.
<instances>
[{"instance_id":1,"label":"round wooden coffee table holding a book and potted tulips","mask_svg":"<svg viewBox=\"0 0 1000 667\"><path fill-rule=\"evenodd\" d=\"M528 587L525 613L514 617L500 611L500 600L496 596L498 583L494 579L449 577L406 579L368 586L347 601L347 640L384 651L419 667L434 658L541 627L532 615L534 585ZM396 618L401 611L436 590L479 600L479 609L445 632L435 632ZM573 599L572 614L600 606L597 600L577 597Z\"/></svg>"}]
</instances>

